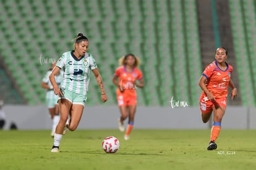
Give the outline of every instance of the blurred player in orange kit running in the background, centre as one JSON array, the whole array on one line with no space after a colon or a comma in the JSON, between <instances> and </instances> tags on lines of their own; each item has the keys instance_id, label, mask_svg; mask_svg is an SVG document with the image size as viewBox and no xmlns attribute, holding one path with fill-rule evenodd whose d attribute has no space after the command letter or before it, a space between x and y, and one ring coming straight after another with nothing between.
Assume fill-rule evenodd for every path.
<instances>
[{"instance_id":1,"label":"blurred player in orange kit running in the background, centre","mask_svg":"<svg viewBox=\"0 0 256 170\"><path fill-rule=\"evenodd\" d=\"M117 103L121 111L121 117L118 119L119 130L124 131L124 120L129 114L125 140L129 139L129 134L134 126L134 115L137 105L137 95L135 89L144 87L142 72L137 68L140 60L134 54L127 54L119 59L119 65L113 77L113 83L117 86ZM117 83L117 78L119 82ZM136 81L139 80L139 84Z\"/></svg>"}]
</instances>

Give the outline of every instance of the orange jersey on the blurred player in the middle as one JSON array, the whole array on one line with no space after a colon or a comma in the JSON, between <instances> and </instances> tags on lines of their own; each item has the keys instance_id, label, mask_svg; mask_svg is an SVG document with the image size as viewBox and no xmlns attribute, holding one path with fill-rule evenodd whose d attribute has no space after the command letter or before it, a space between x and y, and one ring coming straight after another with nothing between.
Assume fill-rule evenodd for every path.
<instances>
[{"instance_id":1,"label":"orange jersey on the blurred player in the middle","mask_svg":"<svg viewBox=\"0 0 256 170\"><path fill-rule=\"evenodd\" d=\"M126 70L125 66L119 67L116 69L115 76L118 77L119 86L124 92L117 88L116 94L117 95L124 95L124 96L136 96L137 87L135 86L136 80L142 79L142 71L138 68L134 68L131 72Z\"/></svg>"}]
</instances>

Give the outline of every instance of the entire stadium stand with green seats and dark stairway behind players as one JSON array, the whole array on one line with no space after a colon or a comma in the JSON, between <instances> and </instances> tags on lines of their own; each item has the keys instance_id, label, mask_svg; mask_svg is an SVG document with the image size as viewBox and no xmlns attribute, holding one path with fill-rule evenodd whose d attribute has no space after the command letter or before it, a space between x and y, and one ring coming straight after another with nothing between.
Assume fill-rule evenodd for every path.
<instances>
[{"instance_id":1,"label":"entire stadium stand with green seats and dark stairway behind players","mask_svg":"<svg viewBox=\"0 0 256 170\"><path fill-rule=\"evenodd\" d=\"M255 107L255 7L253 0L0 0L0 94L6 104L44 104L43 76L82 32L106 105L116 105L118 59L133 53L145 81L138 105L168 106L173 97L197 106L202 71L224 46L238 91L229 105ZM101 105L100 96L91 73L87 105Z\"/></svg>"}]
</instances>

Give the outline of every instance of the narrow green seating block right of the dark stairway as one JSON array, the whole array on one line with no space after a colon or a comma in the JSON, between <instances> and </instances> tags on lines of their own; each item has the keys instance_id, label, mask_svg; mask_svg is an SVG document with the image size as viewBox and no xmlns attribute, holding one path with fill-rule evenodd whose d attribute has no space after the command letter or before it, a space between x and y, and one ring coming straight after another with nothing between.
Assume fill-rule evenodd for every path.
<instances>
[{"instance_id":1,"label":"narrow green seating block right of the dark stairway","mask_svg":"<svg viewBox=\"0 0 256 170\"><path fill-rule=\"evenodd\" d=\"M252 22L252 18L247 17L249 17L249 12L252 12L252 10L250 10L251 7L249 6L244 8L245 10L242 9L246 6L247 3L252 5L252 1L229 0L229 9L231 15L231 25L233 30L234 50L237 60L237 70L239 73L239 83L241 83L240 86L242 87L242 105L255 106L255 96L252 95L252 91L254 91L253 89L255 89L255 87L253 87L253 75L251 75L252 73L250 72L250 62L255 62L253 60L253 58L255 57L255 53L250 53L252 51L247 51L246 42L246 36L249 37L249 34L251 33L249 30L246 30L246 28L248 28L248 26L250 26L251 24L250 22ZM242 14L243 12L244 15ZM243 23L244 20L245 24ZM247 35L245 34L245 32L247 33ZM255 34L255 31L253 32L253 34ZM249 55L252 56L252 60L249 59Z\"/></svg>"}]
</instances>

